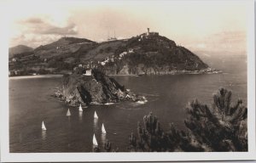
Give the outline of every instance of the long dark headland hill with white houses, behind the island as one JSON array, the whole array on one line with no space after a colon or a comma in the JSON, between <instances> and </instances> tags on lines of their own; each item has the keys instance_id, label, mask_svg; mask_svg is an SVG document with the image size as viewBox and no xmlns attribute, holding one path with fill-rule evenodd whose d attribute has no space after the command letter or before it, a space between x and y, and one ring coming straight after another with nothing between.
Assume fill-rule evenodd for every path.
<instances>
[{"instance_id":1,"label":"long dark headland hill with white houses, behind the island","mask_svg":"<svg viewBox=\"0 0 256 163\"><path fill-rule=\"evenodd\" d=\"M177 46L158 33L109 42L63 37L56 42L16 54L9 70L48 70L64 73L78 65L96 66L108 75L172 74L206 70L205 64L189 49Z\"/></svg>"}]
</instances>

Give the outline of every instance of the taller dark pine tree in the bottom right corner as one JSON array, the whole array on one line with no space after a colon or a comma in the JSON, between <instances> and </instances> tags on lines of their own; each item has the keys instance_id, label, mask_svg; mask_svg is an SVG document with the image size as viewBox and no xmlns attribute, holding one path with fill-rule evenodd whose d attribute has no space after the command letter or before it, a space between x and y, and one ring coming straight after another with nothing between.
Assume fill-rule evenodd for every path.
<instances>
[{"instance_id":1,"label":"taller dark pine tree in the bottom right corner","mask_svg":"<svg viewBox=\"0 0 256 163\"><path fill-rule=\"evenodd\" d=\"M212 151L247 151L247 108L241 99L231 105L232 93L220 88L212 109L197 100L187 107L185 125Z\"/></svg>"}]
</instances>

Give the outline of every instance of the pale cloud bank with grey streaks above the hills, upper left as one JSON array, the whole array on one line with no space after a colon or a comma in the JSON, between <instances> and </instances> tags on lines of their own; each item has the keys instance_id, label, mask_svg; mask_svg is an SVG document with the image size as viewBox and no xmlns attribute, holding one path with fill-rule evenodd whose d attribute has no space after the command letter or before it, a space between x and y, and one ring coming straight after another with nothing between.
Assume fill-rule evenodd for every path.
<instances>
[{"instance_id":1,"label":"pale cloud bank with grey streaks above the hills, upper left","mask_svg":"<svg viewBox=\"0 0 256 163\"><path fill-rule=\"evenodd\" d=\"M73 22L66 20L63 24L53 24L47 17L31 17L17 22L16 31L12 29L12 37L9 46L19 44L37 48L49 42L55 42L63 36L75 36L78 34L78 27Z\"/></svg>"}]
</instances>

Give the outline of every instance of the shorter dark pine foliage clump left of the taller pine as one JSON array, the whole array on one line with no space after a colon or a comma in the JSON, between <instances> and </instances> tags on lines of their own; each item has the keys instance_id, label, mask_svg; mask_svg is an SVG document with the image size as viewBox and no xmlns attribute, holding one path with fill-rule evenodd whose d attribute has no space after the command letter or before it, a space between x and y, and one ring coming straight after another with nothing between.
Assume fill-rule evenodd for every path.
<instances>
[{"instance_id":1,"label":"shorter dark pine foliage clump left of the taller pine","mask_svg":"<svg viewBox=\"0 0 256 163\"><path fill-rule=\"evenodd\" d=\"M137 124L137 137L131 133L129 137L129 149L131 151L203 151L201 147L193 145L191 138L184 132L178 131L173 124L168 132L160 127L157 117L149 113L143 117L144 127Z\"/></svg>"}]
</instances>

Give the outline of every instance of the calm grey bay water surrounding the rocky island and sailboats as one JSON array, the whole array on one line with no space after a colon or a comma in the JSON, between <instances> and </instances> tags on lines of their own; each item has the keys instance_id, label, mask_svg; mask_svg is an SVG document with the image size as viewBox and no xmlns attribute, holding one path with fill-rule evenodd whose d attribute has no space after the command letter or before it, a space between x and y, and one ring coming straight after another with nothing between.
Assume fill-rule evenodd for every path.
<instances>
[{"instance_id":1,"label":"calm grey bay water surrounding the rocky island and sailboats","mask_svg":"<svg viewBox=\"0 0 256 163\"><path fill-rule=\"evenodd\" d=\"M232 90L233 99L247 104L247 64L245 59L217 60L209 64L224 74L177 76L114 76L132 92L145 96L146 104L131 102L92 105L83 113L50 97L61 77L11 78L9 80L9 147L10 152L91 152L93 133L100 146L108 138L113 148L127 151L128 135L137 132L137 121L150 111L167 129L173 122L185 129L184 108L198 98L212 104L212 93L219 87ZM71 116L67 117L67 109ZM96 110L99 119L94 121ZM41 123L47 127L42 132ZM107 135L101 134L104 126ZM116 133L116 134L113 134ZM102 148L103 149L103 148Z\"/></svg>"}]
</instances>

